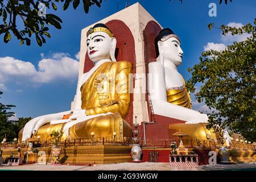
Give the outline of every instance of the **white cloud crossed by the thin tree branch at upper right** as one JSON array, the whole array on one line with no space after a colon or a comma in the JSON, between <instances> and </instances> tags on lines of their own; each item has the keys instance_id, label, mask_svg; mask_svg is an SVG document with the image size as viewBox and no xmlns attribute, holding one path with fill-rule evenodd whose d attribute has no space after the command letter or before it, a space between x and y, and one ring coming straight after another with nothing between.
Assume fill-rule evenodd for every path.
<instances>
[{"instance_id":1,"label":"white cloud crossed by the thin tree branch at upper right","mask_svg":"<svg viewBox=\"0 0 256 182\"><path fill-rule=\"evenodd\" d=\"M236 23L236 22L230 22L230 23L228 23L228 26L240 28L243 26L243 24ZM247 38L249 38L249 36L251 36L251 35L248 33L243 33L242 35L232 35L231 33L228 33L226 36L221 35L221 40L225 44L232 44L233 42L245 41Z\"/></svg>"}]
</instances>

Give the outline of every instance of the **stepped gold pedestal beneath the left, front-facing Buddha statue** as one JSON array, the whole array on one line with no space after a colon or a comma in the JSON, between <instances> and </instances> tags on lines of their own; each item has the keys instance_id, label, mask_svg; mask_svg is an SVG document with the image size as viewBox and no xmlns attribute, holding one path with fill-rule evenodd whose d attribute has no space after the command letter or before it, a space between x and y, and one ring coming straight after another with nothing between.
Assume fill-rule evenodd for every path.
<instances>
[{"instance_id":1,"label":"stepped gold pedestal beneath the left, front-facing Buddha statue","mask_svg":"<svg viewBox=\"0 0 256 182\"><path fill-rule=\"evenodd\" d=\"M60 163L63 164L106 164L106 163L124 163L131 161L131 147L132 146L72 146L63 147L62 154L60 155ZM23 163L42 163L51 162L51 147L38 148L39 154L28 154L26 159L27 148L22 148ZM44 151L44 152L42 152ZM16 148L3 149L2 158L5 160L12 154L18 155ZM45 156L45 159L44 158Z\"/></svg>"}]
</instances>

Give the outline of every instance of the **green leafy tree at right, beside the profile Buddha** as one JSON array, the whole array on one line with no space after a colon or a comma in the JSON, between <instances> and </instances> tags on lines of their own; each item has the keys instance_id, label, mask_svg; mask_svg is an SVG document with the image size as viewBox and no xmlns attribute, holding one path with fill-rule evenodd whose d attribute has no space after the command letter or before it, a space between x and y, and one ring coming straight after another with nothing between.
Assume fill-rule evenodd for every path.
<instances>
[{"instance_id":1,"label":"green leafy tree at right, beside the profile Buddha","mask_svg":"<svg viewBox=\"0 0 256 182\"><path fill-rule=\"evenodd\" d=\"M251 34L243 42L234 42L224 51L205 51L200 63L189 68L192 77L187 86L195 93L199 102L212 109L208 113L209 127L227 127L229 131L242 134L247 140L256 140L256 19L254 26L246 24L240 28L222 25L222 35ZM211 23L209 29L214 27ZM196 84L201 84L196 92Z\"/></svg>"}]
</instances>

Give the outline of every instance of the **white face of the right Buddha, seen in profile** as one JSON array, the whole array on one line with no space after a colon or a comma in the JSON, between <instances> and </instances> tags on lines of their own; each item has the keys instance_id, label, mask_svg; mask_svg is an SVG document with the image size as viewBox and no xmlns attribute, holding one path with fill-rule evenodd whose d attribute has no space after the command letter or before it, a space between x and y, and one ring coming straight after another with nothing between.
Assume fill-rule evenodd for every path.
<instances>
[{"instance_id":1,"label":"white face of the right Buddha, seen in profile","mask_svg":"<svg viewBox=\"0 0 256 182\"><path fill-rule=\"evenodd\" d=\"M183 51L180 47L180 41L177 38L172 37L159 43L159 53L164 56L164 60L172 61L175 65L182 63Z\"/></svg>"}]
</instances>

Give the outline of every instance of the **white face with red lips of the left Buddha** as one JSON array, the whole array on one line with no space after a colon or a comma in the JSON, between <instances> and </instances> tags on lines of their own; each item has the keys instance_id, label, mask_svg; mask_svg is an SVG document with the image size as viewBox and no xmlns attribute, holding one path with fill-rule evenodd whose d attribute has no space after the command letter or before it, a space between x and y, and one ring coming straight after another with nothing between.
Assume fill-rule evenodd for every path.
<instances>
[{"instance_id":1,"label":"white face with red lips of the left Buddha","mask_svg":"<svg viewBox=\"0 0 256 182\"><path fill-rule=\"evenodd\" d=\"M102 59L110 59L110 51L114 45L115 38L110 38L105 32L94 32L86 40L87 51L93 62Z\"/></svg>"}]
</instances>

